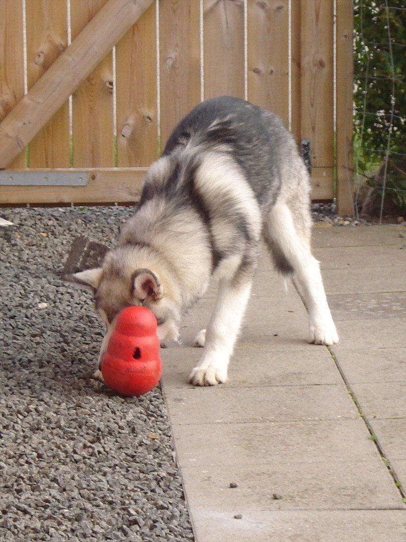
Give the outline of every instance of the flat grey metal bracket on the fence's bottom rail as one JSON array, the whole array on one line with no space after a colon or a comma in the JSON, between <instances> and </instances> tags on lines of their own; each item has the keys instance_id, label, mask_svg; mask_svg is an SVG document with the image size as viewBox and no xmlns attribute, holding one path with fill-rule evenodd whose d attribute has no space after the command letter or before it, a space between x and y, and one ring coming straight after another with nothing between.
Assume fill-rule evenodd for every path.
<instances>
[{"instance_id":1,"label":"flat grey metal bracket on the fence's bottom rail","mask_svg":"<svg viewBox=\"0 0 406 542\"><path fill-rule=\"evenodd\" d=\"M0 185L7 186L86 186L85 171L0 171Z\"/></svg>"}]
</instances>

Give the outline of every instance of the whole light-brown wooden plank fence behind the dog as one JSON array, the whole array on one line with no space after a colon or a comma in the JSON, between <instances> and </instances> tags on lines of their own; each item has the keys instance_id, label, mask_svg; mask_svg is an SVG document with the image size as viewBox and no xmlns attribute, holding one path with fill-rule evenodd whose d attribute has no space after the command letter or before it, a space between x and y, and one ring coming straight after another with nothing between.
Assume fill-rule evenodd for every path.
<instances>
[{"instance_id":1,"label":"whole light-brown wooden plank fence behind the dog","mask_svg":"<svg viewBox=\"0 0 406 542\"><path fill-rule=\"evenodd\" d=\"M313 199L336 195L352 211L351 0L1 0L0 10L2 204L136 201L177 121L231 94L309 139ZM51 173L53 185L35 180Z\"/></svg>"}]
</instances>

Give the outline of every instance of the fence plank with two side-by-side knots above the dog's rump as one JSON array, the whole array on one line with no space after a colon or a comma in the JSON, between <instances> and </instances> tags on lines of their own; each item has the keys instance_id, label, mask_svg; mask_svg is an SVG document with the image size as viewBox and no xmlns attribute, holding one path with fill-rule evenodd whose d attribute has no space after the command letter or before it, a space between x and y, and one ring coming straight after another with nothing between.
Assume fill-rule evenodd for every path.
<instances>
[{"instance_id":1,"label":"fence plank with two side-by-side knots above the dog's rump","mask_svg":"<svg viewBox=\"0 0 406 542\"><path fill-rule=\"evenodd\" d=\"M288 125L288 1L248 2L248 100Z\"/></svg>"}]
</instances>

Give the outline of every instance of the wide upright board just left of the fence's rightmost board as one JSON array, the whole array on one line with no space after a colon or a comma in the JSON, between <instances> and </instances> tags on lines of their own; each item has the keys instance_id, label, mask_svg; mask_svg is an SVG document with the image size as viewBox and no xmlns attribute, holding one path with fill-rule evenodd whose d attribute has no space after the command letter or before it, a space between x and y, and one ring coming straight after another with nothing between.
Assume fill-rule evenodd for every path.
<instances>
[{"instance_id":1,"label":"wide upright board just left of the fence's rightmost board","mask_svg":"<svg viewBox=\"0 0 406 542\"><path fill-rule=\"evenodd\" d=\"M301 137L312 166L333 165L333 2L301 2Z\"/></svg>"}]
</instances>

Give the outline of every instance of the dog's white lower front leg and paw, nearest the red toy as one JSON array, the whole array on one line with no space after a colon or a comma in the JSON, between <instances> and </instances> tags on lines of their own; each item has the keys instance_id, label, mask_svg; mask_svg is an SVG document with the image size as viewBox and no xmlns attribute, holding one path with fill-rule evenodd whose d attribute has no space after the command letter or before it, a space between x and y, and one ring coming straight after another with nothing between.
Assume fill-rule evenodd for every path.
<instances>
[{"instance_id":1,"label":"dog's white lower front leg and paw, nearest the red toy","mask_svg":"<svg viewBox=\"0 0 406 542\"><path fill-rule=\"evenodd\" d=\"M192 370L189 382L195 386L214 386L227 380L231 353L247 306L251 281L222 280L216 306L211 316L199 364Z\"/></svg>"}]
</instances>

